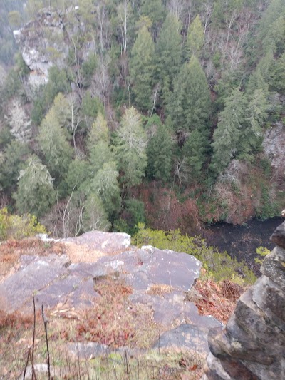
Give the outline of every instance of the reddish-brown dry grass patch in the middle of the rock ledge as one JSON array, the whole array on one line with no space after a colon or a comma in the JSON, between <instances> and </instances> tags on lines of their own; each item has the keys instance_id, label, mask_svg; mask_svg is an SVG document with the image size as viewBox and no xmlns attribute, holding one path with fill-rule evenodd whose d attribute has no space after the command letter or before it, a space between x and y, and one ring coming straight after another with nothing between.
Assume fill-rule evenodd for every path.
<instances>
[{"instance_id":1,"label":"reddish-brown dry grass patch in the middle of the rock ledge","mask_svg":"<svg viewBox=\"0 0 285 380\"><path fill-rule=\"evenodd\" d=\"M76 341L98 342L112 348L149 348L158 338L159 327L152 321L149 307L128 300L133 291L120 275L99 277L94 289L100 297L94 309L78 322Z\"/></svg>"}]
</instances>

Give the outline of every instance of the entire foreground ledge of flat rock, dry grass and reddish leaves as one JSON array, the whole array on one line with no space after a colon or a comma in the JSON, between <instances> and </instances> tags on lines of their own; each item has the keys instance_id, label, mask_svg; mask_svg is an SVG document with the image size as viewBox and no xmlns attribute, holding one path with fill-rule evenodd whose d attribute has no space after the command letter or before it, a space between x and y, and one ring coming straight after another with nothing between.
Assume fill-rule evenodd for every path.
<instances>
[{"instance_id":1,"label":"entire foreground ledge of flat rock, dry grass and reddish leaves","mask_svg":"<svg viewBox=\"0 0 285 380\"><path fill-rule=\"evenodd\" d=\"M48 354L55 379L199 379L207 333L242 289L197 282L192 255L121 233L8 240L0 268L1 379L22 378L25 363L26 379L33 366L47 379Z\"/></svg>"}]
</instances>

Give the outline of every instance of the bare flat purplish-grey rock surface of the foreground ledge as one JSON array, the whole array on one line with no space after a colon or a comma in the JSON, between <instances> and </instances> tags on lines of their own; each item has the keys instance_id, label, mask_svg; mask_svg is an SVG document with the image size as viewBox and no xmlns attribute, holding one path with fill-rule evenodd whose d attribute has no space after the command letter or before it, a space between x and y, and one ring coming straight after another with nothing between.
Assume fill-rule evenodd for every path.
<instances>
[{"instance_id":1,"label":"bare flat purplish-grey rock surface of the foreground ledge","mask_svg":"<svg viewBox=\"0 0 285 380\"><path fill-rule=\"evenodd\" d=\"M120 275L132 288L130 302L144 305L153 321L165 327L153 349L189 349L207 356L209 329L222 324L199 315L195 304L185 300L199 277L199 260L151 246L131 247L130 236L122 233L88 232L60 242L66 247L61 255L20 257L19 268L0 283L0 310L31 313L34 294L37 309L43 305L56 317L73 318L95 307L99 296L94 284ZM91 342L67 346L70 354L86 359L110 351Z\"/></svg>"}]
</instances>

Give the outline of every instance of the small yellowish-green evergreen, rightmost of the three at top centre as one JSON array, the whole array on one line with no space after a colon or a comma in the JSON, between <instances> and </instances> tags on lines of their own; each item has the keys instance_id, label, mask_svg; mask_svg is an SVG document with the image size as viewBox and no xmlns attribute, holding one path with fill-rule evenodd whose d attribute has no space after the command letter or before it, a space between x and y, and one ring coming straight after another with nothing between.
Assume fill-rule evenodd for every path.
<instances>
[{"instance_id":1,"label":"small yellowish-green evergreen, rightmost of the three at top centre","mask_svg":"<svg viewBox=\"0 0 285 380\"><path fill-rule=\"evenodd\" d=\"M203 45L204 28L198 14L188 28L187 41L185 46L185 57L187 60L193 55L199 58Z\"/></svg>"}]
</instances>

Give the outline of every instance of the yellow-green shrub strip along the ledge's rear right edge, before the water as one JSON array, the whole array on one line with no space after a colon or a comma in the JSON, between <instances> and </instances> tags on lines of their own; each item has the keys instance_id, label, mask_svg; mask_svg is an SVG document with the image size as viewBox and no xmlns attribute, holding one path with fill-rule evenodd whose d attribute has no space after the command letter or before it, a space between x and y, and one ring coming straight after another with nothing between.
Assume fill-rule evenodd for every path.
<instances>
[{"instance_id":1,"label":"yellow-green shrub strip along the ledge's rear right edge, before the water","mask_svg":"<svg viewBox=\"0 0 285 380\"><path fill-rule=\"evenodd\" d=\"M243 263L233 260L227 252L219 252L214 247L207 247L203 239L181 235L179 230L170 232L150 230L140 223L138 232L133 237L133 244L138 247L152 245L160 250L173 250L193 255L203 263L207 272L217 282L236 278L237 271L243 273L245 284L252 284L256 280L254 274Z\"/></svg>"}]
</instances>

